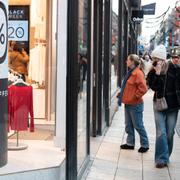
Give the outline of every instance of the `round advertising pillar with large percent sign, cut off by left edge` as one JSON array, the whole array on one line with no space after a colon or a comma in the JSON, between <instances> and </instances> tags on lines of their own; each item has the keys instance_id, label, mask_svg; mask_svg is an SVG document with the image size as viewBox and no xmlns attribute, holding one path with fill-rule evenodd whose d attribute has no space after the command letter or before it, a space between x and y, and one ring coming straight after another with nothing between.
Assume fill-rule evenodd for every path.
<instances>
[{"instance_id":1,"label":"round advertising pillar with large percent sign, cut off by left edge","mask_svg":"<svg viewBox=\"0 0 180 180\"><path fill-rule=\"evenodd\" d=\"M8 45L8 18L7 0L0 1L0 167L7 163L7 45Z\"/></svg>"}]
</instances>

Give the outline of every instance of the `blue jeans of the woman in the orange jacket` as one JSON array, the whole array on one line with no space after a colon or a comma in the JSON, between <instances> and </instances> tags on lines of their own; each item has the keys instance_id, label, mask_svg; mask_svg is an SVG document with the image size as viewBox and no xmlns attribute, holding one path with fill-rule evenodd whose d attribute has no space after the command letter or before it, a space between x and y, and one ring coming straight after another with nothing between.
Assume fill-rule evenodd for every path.
<instances>
[{"instance_id":1,"label":"blue jeans of the woman in the orange jacket","mask_svg":"<svg viewBox=\"0 0 180 180\"><path fill-rule=\"evenodd\" d=\"M135 133L137 130L140 136L141 147L149 148L149 141L143 123L144 104L125 105L125 131L127 133L126 143L129 146L135 145Z\"/></svg>"}]
</instances>

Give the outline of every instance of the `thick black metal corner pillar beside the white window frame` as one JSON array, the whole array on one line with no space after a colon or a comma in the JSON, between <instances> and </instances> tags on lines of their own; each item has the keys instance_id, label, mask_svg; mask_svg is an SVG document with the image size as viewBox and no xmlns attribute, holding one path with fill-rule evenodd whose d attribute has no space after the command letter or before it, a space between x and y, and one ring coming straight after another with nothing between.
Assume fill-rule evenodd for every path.
<instances>
[{"instance_id":1,"label":"thick black metal corner pillar beside the white window frame","mask_svg":"<svg viewBox=\"0 0 180 180\"><path fill-rule=\"evenodd\" d=\"M78 0L68 0L66 180L77 180Z\"/></svg>"}]
</instances>

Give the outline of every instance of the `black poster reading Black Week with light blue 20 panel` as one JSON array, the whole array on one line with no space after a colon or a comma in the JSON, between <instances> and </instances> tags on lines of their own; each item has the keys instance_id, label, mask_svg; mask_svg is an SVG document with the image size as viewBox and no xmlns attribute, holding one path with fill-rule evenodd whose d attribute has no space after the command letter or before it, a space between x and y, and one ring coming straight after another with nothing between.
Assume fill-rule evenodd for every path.
<instances>
[{"instance_id":1,"label":"black poster reading Black Week with light blue 20 panel","mask_svg":"<svg viewBox=\"0 0 180 180\"><path fill-rule=\"evenodd\" d=\"M29 5L10 5L8 15L8 40L29 53Z\"/></svg>"}]
</instances>

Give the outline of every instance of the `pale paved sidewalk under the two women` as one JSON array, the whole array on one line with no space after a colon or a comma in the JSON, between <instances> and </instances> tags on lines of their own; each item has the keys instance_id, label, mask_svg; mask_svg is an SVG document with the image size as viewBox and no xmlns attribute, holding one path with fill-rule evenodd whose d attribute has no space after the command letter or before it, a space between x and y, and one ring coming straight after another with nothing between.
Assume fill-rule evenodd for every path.
<instances>
[{"instance_id":1,"label":"pale paved sidewalk under the two women","mask_svg":"<svg viewBox=\"0 0 180 180\"><path fill-rule=\"evenodd\" d=\"M175 135L174 150L167 168L157 169L154 164L155 124L152 110L152 92L144 96L144 123L150 141L147 153L138 153L139 136L136 133L135 150L121 150L125 143L124 108L119 108L111 127L104 136L92 138L92 166L86 180L179 180L180 138Z\"/></svg>"}]
</instances>

